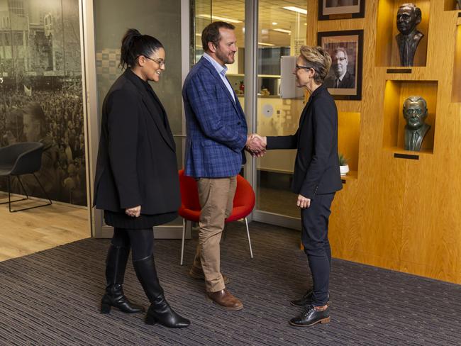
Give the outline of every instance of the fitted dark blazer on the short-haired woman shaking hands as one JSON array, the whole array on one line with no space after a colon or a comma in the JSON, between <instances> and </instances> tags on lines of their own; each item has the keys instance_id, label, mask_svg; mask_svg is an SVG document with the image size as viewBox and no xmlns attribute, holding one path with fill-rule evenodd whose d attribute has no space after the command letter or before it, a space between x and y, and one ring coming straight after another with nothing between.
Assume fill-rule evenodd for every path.
<instances>
[{"instance_id":1,"label":"fitted dark blazer on the short-haired woman shaking hands","mask_svg":"<svg viewBox=\"0 0 461 346\"><path fill-rule=\"evenodd\" d=\"M267 137L267 149L297 149L291 190L308 199L343 188L338 159L338 111L325 86L313 91L294 135Z\"/></svg>"}]
</instances>

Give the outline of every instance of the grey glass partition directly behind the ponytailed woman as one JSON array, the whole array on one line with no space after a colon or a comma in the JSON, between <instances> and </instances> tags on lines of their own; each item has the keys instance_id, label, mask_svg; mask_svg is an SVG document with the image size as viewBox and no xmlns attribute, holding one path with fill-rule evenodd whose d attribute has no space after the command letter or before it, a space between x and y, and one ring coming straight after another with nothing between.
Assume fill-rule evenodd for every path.
<instances>
[{"instance_id":1,"label":"grey glass partition directly behind the ponytailed woman","mask_svg":"<svg viewBox=\"0 0 461 346\"><path fill-rule=\"evenodd\" d=\"M99 119L107 91L123 72L118 67L123 34L128 28L135 28L142 34L154 36L165 47L166 69L160 82L152 82L151 85L167 111L175 135L179 168L183 164L181 5L182 1L94 1ZM178 218L172 224L181 225L182 219Z\"/></svg>"}]
</instances>

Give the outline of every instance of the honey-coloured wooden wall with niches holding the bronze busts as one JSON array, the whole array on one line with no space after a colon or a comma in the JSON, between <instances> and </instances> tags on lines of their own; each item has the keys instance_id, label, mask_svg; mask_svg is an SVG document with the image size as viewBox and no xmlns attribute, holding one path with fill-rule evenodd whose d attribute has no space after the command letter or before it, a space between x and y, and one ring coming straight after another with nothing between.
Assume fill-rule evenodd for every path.
<instances>
[{"instance_id":1,"label":"honey-coloured wooden wall with niches holding the bronze busts","mask_svg":"<svg viewBox=\"0 0 461 346\"><path fill-rule=\"evenodd\" d=\"M362 100L336 101L343 116L360 113L360 135L357 178L346 179L333 202L333 256L461 284L458 11L445 11L452 6L448 0L416 1L427 44L425 61L418 60L423 66L411 74L387 73L387 67L398 65L389 45L399 1L367 0L365 18L333 21L317 20L317 2L308 1L307 44L317 44L318 31L364 30ZM389 23L391 30L382 30ZM421 55L419 50L423 45ZM418 93L428 101L433 125L426 152L420 153L407 152L402 144L401 106ZM416 154L418 160L398 159L394 152Z\"/></svg>"}]
</instances>

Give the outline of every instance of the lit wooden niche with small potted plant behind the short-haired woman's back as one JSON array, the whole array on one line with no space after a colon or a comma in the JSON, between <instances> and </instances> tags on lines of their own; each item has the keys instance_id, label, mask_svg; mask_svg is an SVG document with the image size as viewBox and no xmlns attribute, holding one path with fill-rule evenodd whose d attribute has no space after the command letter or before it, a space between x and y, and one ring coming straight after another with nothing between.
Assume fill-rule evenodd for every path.
<instances>
[{"instance_id":1,"label":"lit wooden niche with small potted plant behind the short-haired woman's back","mask_svg":"<svg viewBox=\"0 0 461 346\"><path fill-rule=\"evenodd\" d=\"M348 159L349 172L343 180L357 179L359 168L360 113L338 112L338 152Z\"/></svg>"}]
</instances>

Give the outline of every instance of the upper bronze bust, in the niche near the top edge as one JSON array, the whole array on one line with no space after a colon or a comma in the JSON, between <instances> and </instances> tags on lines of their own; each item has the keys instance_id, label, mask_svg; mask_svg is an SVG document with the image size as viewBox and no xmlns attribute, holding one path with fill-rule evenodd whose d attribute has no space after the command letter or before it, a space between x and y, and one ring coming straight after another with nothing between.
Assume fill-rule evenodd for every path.
<instances>
[{"instance_id":1,"label":"upper bronze bust, in the niche near the top edge","mask_svg":"<svg viewBox=\"0 0 461 346\"><path fill-rule=\"evenodd\" d=\"M399 7L397 29L400 33L395 38L399 45L401 66L413 66L416 48L424 36L423 33L416 30L419 23L421 23L421 9L415 4L403 4Z\"/></svg>"}]
</instances>

